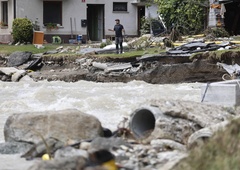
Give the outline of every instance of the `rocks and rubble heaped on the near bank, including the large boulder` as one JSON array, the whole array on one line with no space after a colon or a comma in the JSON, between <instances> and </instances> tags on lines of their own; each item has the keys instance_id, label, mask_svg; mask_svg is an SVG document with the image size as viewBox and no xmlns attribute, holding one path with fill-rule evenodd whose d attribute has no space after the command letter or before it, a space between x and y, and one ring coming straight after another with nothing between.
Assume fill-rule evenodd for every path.
<instances>
[{"instance_id":1,"label":"rocks and rubble heaped on the near bank, including the large boulder","mask_svg":"<svg viewBox=\"0 0 240 170\"><path fill-rule=\"evenodd\" d=\"M156 123L156 126L153 126L149 136L144 138L136 138L132 134L130 123L133 119L131 118L124 118L119 123L118 129L106 136L103 131L108 131L107 134L109 134L109 129L101 126L94 128L92 125L95 125L98 120L92 121L90 119L95 118L77 110L14 114L5 124L6 143L0 144L0 152L22 153L22 157L27 160L38 160L29 170L38 170L43 167L44 169L96 168L104 167L110 160L112 166L117 166L118 169L163 169L164 167L164 170L170 170L179 160L188 156L188 150L193 147L196 140L200 140L201 137L210 137L235 116L233 112L228 112L221 106L165 100L149 101L149 103L158 107L160 110L158 114L161 115L159 117L155 115L156 119L153 123ZM146 114L146 112L141 113ZM58 115L57 119L56 115ZM76 119L77 115L85 118ZM71 119L91 122L91 125ZM63 129L63 120L65 124L71 122L69 124L71 127ZM184 121L185 123L182 123ZM23 124L23 122L32 123ZM149 120L145 119L142 123L149 123ZM215 126L218 123L221 125ZM134 126L141 126L141 124ZM203 134L203 130L207 128L212 129L210 135L195 134L197 132ZM96 131L99 132L96 133ZM74 135L73 132L76 134ZM92 156L95 154L101 154L101 157L93 159Z\"/></svg>"}]
</instances>

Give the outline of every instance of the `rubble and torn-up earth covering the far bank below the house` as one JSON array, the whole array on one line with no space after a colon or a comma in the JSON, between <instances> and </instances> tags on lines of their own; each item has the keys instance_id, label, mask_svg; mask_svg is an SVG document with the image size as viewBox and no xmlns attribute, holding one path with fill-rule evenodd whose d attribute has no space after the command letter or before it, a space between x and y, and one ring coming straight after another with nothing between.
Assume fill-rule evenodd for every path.
<instances>
[{"instance_id":1,"label":"rubble and torn-up earth covering the far bank below the house","mask_svg":"<svg viewBox=\"0 0 240 170\"><path fill-rule=\"evenodd\" d=\"M153 37L149 34L140 38L128 38L128 41L123 43L125 52L151 47L167 49L166 52L157 54L143 54L129 58L110 59L105 57L103 59L98 58L97 55L115 53L114 44L104 48L99 48L100 44L86 44L76 47L59 46L56 50L46 51L43 54L15 52L9 57L0 58L0 63L2 66L14 66L19 70L24 70L17 78L13 78L14 81L19 81L25 76L32 78L33 81L47 79L48 81L61 80L66 82L78 80L99 82L143 80L149 83L219 81L226 71L219 70L215 64L224 61L221 58L214 62L210 61L209 58L215 55L211 56L210 52L238 48L236 42L230 38L216 39L218 42L206 42L204 37L196 36L195 38L185 37L184 42L175 42L175 47L168 49L169 47L164 44L164 39L166 37ZM54 57L54 54L62 56ZM192 57L192 54L200 57ZM238 54L236 53L236 55ZM232 55L228 58L232 62L238 62L235 60L236 57ZM201 64L201 62L203 63ZM203 64L209 65L208 68ZM169 68L172 71L168 70ZM176 69L178 69L177 72L173 71ZM12 75L0 71L2 81L12 81Z\"/></svg>"}]
</instances>

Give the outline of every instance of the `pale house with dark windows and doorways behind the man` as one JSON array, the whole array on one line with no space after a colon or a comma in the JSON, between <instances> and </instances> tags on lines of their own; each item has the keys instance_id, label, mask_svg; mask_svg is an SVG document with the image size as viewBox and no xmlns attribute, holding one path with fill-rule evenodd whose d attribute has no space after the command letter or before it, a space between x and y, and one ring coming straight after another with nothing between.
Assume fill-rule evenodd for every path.
<instances>
[{"instance_id":1,"label":"pale house with dark windows and doorways behind the man","mask_svg":"<svg viewBox=\"0 0 240 170\"><path fill-rule=\"evenodd\" d=\"M59 36L62 42L76 39L101 41L113 37L108 31L115 19L121 20L126 34L138 36L143 16L156 18L157 7L146 5L146 0L0 0L0 42L11 40L15 18L28 18L39 25L44 39L52 42ZM55 26L49 29L49 26Z\"/></svg>"}]
</instances>

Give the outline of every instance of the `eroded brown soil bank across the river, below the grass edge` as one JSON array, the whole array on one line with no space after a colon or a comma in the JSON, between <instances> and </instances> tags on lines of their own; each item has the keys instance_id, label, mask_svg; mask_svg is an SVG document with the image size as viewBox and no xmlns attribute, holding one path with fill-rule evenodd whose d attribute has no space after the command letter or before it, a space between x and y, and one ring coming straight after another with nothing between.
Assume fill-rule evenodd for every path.
<instances>
[{"instance_id":1,"label":"eroded brown soil bank across the river, below the grass edge","mask_svg":"<svg viewBox=\"0 0 240 170\"><path fill-rule=\"evenodd\" d=\"M225 51L205 52L194 56L169 56L164 54L145 55L129 58L101 58L97 55L81 57L43 56L41 69L28 73L35 81L66 81L79 80L96 82L129 82L142 80L153 84L182 82L214 82L221 81L227 73L217 63L240 63L240 52ZM6 66L7 58L0 58L0 66ZM122 65L129 63L132 69L106 71L93 66L100 64ZM133 71L134 70L134 71Z\"/></svg>"}]
</instances>

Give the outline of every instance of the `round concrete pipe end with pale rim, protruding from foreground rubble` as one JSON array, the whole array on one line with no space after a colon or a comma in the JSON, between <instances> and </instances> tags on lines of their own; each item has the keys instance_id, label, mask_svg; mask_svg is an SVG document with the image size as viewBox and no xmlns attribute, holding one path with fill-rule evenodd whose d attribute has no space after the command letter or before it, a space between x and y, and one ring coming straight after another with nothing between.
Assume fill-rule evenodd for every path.
<instances>
[{"instance_id":1,"label":"round concrete pipe end with pale rim, protruding from foreground rubble","mask_svg":"<svg viewBox=\"0 0 240 170\"><path fill-rule=\"evenodd\" d=\"M155 128L156 120L162 115L157 106L143 106L135 110L129 121L129 128L137 139L147 138Z\"/></svg>"}]
</instances>

